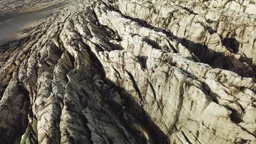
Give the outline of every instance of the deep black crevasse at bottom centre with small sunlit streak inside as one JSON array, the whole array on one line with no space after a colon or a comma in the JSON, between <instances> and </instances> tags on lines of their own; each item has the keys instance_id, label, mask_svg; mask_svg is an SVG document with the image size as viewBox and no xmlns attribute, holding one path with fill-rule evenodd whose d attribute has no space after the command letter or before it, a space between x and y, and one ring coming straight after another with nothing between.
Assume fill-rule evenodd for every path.
<instances>
[{"instance_id":1,"label":"deep black crevasse at bottom centre with small sunlit streak inside","mask_svg":"<svg viewBox=\"0 0 256 144\"><path fill-rule=\"evenodd\" d=\"M110 86L110 91L105 95L105 100L118 115L126 129L131 131L131 134L136 137L139 143L157 143L170 144L168 136L156 125L149 114L144 111L142 106L129 94L124 88L118 87L110 80L105 80ZM121 103L117 103L118 93Z\"/></svg>"}]
</instances>

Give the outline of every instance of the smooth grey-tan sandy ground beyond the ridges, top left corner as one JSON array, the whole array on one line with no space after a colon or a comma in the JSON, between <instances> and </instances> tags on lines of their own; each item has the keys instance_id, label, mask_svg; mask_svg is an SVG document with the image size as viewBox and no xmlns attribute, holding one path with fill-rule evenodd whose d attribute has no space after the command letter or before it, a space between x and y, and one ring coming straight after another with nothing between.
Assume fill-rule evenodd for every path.
<instances>
[{"instance_id":1,"label":"smooth grey-tan sandy ground beyond the ridges, top left corner","mask_svg":"<svg viewBox=\"0 0 256 144\"><path fill-rule=\"evenodd\" d=\"M19 1L20 2L20 1ZM17 4L21 4L21 3ZM14 2L15 3L15 2ZM67 1L45 1L40 2L32 7L27 6L18 7L18 10L14 10L9 13L9 11L3 11L0 13L0 45L7 44L10 41L17 40L26 37L26 34L22 33L24 29L36 26L39 21L49 16L49 11L60 7L62 4L67 3ZM23 9L24 8L24 9Z\"/></svg>"}]
</instances>

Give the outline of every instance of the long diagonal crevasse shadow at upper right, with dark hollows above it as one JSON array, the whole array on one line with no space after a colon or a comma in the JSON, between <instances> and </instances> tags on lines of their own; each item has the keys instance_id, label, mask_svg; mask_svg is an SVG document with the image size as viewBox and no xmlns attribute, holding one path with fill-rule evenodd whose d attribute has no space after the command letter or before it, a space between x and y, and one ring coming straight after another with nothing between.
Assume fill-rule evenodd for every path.
<instances>
[{"instance_id":1,"label":"long diagonal crevasse shadow at upper right, with dark hollows above it","mask_svg":"<svg viewBox=\"0 0 256 144\"><path fill-rule=\"evenodd\" d=\"M118 11L121 14L121 11L117 9L116 11ZM133 18L127 15L123 15L123 16L126 19L130 19L132 21L138 22L139 25L143 27L148 27L150 29L153 29L154 31L165 33L168 38L170 38L171 40L177 40L179 43L187 47L187 49L189 49L191 52L195 53L195 55L200 59L201 62L210 64L213 68L231 70L243 77L256 77L256 73L255 73L256 65L252 64L251 58L241 57L240 59L237 59L232 56L226 56L225 53L208 49L208 47L204 44L195 43L194 41L191 41L185 38L179 38L170 31L166 31L165 29L161 29L161 28L149 25L144 20ZM205 28L210 33L216 32L211 27L205 27ZM235 38L224 38L222 40L222 44L231 53L237 53L239 51L239 43ZM243 62L250 65L252 69Z\"/></svg>"}]
</instances>

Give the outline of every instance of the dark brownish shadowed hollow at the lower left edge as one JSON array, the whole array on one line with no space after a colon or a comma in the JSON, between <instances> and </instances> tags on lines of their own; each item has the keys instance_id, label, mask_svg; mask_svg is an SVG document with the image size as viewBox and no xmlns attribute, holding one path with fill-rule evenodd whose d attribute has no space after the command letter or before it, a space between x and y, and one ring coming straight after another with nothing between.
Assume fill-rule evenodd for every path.
<instances>
[{"instance_id":1,"label":"dark brownish shadowed hollow at the lower left edge","mask_svg":"<svg viewBox=\"0 0 256 144\"><path fill-rule=\"evenodd\" d=\"M0 117L4 123L0 125L0 143L20 141L29 123L27 117L31 105L29 92L21 83L16 83L13 89L11 93L15 94L10 94L1 100Z\"/></svg>"}]
</instances>

